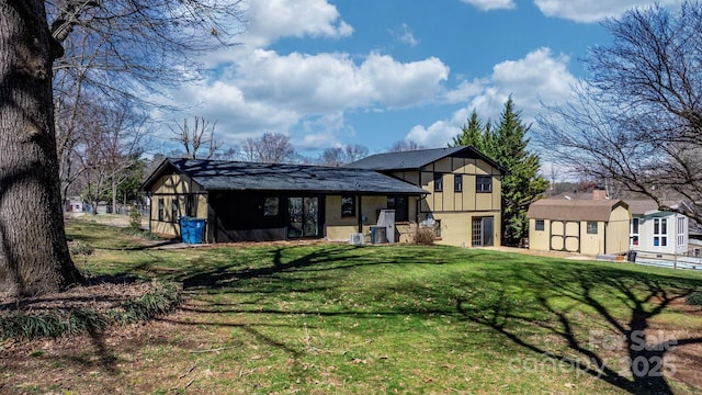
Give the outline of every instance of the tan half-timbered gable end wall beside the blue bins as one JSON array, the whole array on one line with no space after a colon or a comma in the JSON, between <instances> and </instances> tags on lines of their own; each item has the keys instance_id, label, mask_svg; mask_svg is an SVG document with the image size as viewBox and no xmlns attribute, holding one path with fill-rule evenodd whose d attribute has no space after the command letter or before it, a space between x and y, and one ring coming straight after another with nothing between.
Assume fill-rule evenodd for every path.
<instances>
[{"instance_id":1,"label":"tan half-timbered gable end wall beside the blue bins","mask_svg":"<svg viewBox=\"0 0 702 395\"><path fill-rule=\"evenodd\" d=\"M150 229L154 233L180 236L179 218L185 215L185 196L188 194L196 196L192 216L207 218L207 192L185 174L166 174L156 181L151 191ZM161 201L163 203L163 221L159 221L159 202Z\"/></svg>"}]
</instances>

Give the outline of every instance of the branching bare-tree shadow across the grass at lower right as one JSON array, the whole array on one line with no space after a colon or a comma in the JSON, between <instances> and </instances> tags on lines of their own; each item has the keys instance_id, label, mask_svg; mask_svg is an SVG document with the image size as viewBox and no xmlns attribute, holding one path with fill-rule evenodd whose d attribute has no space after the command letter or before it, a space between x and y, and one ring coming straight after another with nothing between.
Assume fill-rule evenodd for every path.
<instances>
[{"instance_id":1,"label":"branching bare-tree shadow across the grass at lower right","mask_svg":"<svg viewBox=\"0 0 702 395\"><path fill-rule=\"evenodd\" d=\"M491 297L478 303L460 297L456 308L465 319L537 354L544 365L562 363L632 394L672 394L666 373L676 370L667 353L702 343L702 337L679 339L650 330L652 318L683 300L700 281L570 262L558 270L521 264L503 270L506 282L482 279ZM508 291L513 286L532 292L516 296ZM528 306L519 301L524 296ZM582 307L593 312L591 316L578 317ZM565 347L534 340L523 330L534 325Z\"/></svg>"}]
</instances>

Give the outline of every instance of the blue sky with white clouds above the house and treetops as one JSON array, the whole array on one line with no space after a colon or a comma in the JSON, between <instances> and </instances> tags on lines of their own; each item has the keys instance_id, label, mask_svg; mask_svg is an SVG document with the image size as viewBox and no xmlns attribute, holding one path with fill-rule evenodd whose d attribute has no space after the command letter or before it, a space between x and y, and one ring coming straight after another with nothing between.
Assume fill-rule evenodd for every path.
<instances>
[{"instance_id":1,"label":"blue sky with white clouds above the house and treetops","mask_svg":"<svg viewBox=\"0 0 702 395\"><path fill-rule=\"evenodd\" d=\"M599 21L641 0L247 0L241 45L172 93L183 114L217 122L226 145L265 132L314 157L411 139L443 147L473 110L498 120L511 94L525 122L568 99ZM678 5L680 0L661 0ZM182 122L182 121L181 121Z\"/></svg>"}]
</instances>

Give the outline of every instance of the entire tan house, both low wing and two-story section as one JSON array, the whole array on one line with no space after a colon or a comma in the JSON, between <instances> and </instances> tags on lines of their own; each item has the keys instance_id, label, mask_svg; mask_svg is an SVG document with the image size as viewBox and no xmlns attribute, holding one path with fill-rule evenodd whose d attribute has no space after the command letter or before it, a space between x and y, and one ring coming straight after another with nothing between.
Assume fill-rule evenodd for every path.
<instances>
[{"instance_id":1,"label":"entire tan house, both low wing and two-story section","mask_svg":"<svg viewBox=\"0 0 702 395\"><path fill-rule=\"evenodd\" d=\"M151 195L150 228L159 234L178 236L180 216L189 215L206 219L206 240L215 242L349 240L358 233L367 240L382 210L403 210L395 217L397 241L411 241L416 229L426 225L438 230L439 244L472 247L500 245L505 173L472 147L378 154L341 168L167 158L141 189ZM478 191L479 176L488 176L479 181L485 191ZM442 190L434 185L438 178ZM301 212L298 218L318 226L318 232L292 234L296 228L288 228L292 219L286 218L285 204L281 203L282 212L267 214L262 203L269 198L290 203L301 196L319 199L314 205L319 215L315 208L315 214ZM353 214L349 199L354 202Z\"/></svg>"}]
</instances>

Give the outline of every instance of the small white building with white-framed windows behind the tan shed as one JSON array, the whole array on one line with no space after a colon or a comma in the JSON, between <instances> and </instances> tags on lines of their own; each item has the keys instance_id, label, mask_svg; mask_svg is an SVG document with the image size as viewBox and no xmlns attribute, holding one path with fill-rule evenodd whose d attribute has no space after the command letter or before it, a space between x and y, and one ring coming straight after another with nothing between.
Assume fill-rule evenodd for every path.
<instances>
[{"instance_id":1,"label":"small white building with white-framed windows behind the tan shed","mask_svg":"<svg viewBox=\"0 0 702 395\"><path fill-rule=\"evenodd\" d=\"M661 212L653 200L626 201L632 212L630 248L655 253L687 253L689 250L690 219L682 214ZM677 208L682 202L667 202Z\"/></svg>"}]
</instances>

